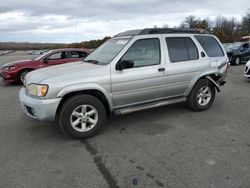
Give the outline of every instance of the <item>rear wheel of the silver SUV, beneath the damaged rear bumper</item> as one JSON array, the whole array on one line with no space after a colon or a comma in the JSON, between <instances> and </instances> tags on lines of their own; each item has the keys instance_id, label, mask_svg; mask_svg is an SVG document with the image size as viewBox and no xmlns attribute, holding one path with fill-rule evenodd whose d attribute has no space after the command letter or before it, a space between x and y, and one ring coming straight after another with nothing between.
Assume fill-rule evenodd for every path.
<instances>
[{"instance_id":1,"label":"rear wheel of the silver SUV, beneath the damaged rear bumper","mask_svg":"<svg viewBox=\"0 0 250 188\"><path fill-rule=\"evenodd\" d=\"M215 86L207 79L200 79L187 98L191 110L204 111L210 108L215 99Z\"/></svg>"}]
</instances>

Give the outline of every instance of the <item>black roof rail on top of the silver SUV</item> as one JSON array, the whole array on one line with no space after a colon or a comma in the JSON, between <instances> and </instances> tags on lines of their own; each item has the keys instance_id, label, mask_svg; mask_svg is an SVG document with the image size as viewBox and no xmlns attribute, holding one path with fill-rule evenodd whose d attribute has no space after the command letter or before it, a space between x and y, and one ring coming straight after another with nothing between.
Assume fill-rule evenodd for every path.
<instances>
[{"instance_id":1,"label":"black roof rail on top of the silver SUV","mask_svg":"<svg viewBox=\"0 0 250 188\"><path fill-rule=\"evenodd\" d=\"M166 33L210 34L207 30L201 28L148 28L141 30L139 35Z\"/></svg>"}]
</instances>

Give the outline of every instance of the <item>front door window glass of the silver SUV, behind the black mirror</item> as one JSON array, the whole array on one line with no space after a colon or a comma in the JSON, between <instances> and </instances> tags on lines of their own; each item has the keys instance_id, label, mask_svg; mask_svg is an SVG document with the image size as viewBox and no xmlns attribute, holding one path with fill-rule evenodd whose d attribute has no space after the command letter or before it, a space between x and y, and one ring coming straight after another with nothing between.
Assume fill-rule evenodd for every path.
<instances>
[{"instance_id":1,"label":"front door window glass of the silver SUV, behind the black mirror","mask_svg":"<svg viewBox=\"0 0 250 188\"><path fill-rule=\"evenodd\" d=\"M134 67L150 66L160 64L160 42L159 39L137 40L128 49L122 60L134 62Z\"/></svg>"}]
</instances>

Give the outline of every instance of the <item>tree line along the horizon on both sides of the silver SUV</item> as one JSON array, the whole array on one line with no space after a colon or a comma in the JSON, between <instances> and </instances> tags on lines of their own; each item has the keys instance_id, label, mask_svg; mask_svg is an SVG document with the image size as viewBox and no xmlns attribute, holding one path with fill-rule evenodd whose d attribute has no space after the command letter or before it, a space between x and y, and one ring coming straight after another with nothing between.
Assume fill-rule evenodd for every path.
<instances>
[{"instance_id":1,"label":"tree line along the horizon on both sides of the silver SUV","mask_svg":"<svg viewBox=\"0 0 250 188\"><path fill-rule=\"evenodd\" d=\"M168 27L164 24L163 27ZM193 15L186 17L178 26L181 28L202 28L217 36L223 43L237 42L243 36L250 36L250 9L242 16L241 20L218 16L214 20L210 18L198 18ZM0 50L42 50L56 48L89 48L94 49L111 37L103 39L84 41L80 43L15 43L0 42Z\"/></svg>"}]
</instances>

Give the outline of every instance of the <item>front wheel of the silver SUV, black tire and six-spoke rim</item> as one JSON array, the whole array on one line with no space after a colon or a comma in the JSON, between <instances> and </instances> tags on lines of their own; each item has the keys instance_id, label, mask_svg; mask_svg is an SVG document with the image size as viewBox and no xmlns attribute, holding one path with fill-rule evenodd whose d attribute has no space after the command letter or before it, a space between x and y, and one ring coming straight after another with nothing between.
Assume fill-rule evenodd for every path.
<instances>
[{"instance_id":1,"label":"front wheel of the silver SUV, black tire and six-spoke rim","mask_svg":"<svg viewBox=\"0 0 250 188\"><path fill-rule=\"evenodd\" d=\"M91 95L69 98L59 112L59 126L64 134L74 139L94 136L106 120L102 102Z\"/></svg>"}]
</instances>

